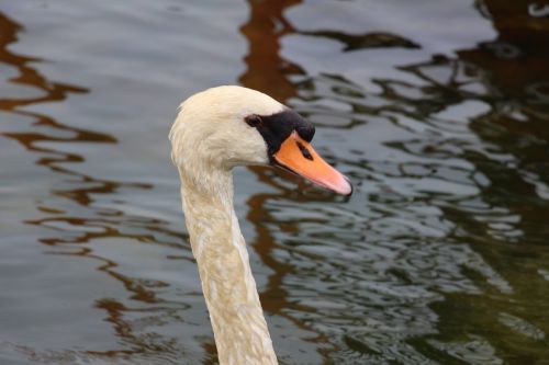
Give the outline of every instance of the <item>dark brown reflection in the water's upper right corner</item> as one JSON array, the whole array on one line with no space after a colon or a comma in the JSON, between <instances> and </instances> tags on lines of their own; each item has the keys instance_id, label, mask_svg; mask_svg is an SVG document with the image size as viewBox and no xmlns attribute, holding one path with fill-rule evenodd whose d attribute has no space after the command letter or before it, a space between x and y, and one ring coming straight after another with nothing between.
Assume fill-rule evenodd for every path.
<instances>
[{"instance_id":1,"label":"dark brown reflection in the water's upper right corner","mask_svg":"<svg viewBox=\"0 0 549 365\"><path fill-rule=\"evenodd\" d=\"M509 102L519 105L533 119L529 128L549 138L541 119L549 117L549 25L547 16L535 16L531 5L519 1L483 0L497 37L473 49L458 52L459 58L489 70L486 80ZM547 5L546 5L547 7ZM549 8L548 8L549 9ZM520 123L502 123L506 128L523 128Z\"/></svg>"}]
</instances>

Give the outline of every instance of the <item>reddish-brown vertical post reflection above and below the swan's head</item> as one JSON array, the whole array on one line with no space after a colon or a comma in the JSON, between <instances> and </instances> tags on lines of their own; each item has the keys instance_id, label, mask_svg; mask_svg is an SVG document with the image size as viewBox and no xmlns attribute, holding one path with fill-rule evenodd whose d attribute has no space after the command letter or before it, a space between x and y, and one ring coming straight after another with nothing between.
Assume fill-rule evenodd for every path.
<instances>
[{"instance_id":1,"label":"reddish-brown vertical post reflection above and below the swan's head","mask_svg":"<svg viewBox=\"0 0 549 365\"><path fill-rule=\"evenodd\" d=\"M259 90L285 103L291 98L298 95L298 89L289 79L292 75L303 75L299 65L294 65L283 59L280 52L280 41L284 35L294 33L293 26L285 20L283 13L287 9L301 3L301 0L284 1L254 1L249 0L250 16L248 23L240 27L249 44L248 55L245 57L247 69L240 76L243 85ZM249 206L248 221L255 225L257 239L251 246L257 251L261 261L273 272L268 277L266 289L260 293L261 305L270 315L281 316L292 321L296 327L311 331L304 323L284 312L284 309L295 309L300 311L312 311L313 308L304 307L292 303L288 298L288 292L283 288L284 276L292 273L293 265L277 261L273 250L277 248L272 229L294 230L292 225L277 223L271 213L267 209L269 201L285 199L292 196L292 201L310 202L311 196L296 195L295 191L277 182L279 176L284 180L292 180L300 187L305 187L300 179L282 171L270 168L249 168L257 179L265 184L277 190L277 193L265 193L253 195L247 204ZM318 199L332 199L329 195L317 196ZM272 225L273 224L273 225ZM309 342L327 343L327 338L316 332L313 339L302 339ZM318 352L325 349L318 349Z\"/></svg>"}]
</instances>

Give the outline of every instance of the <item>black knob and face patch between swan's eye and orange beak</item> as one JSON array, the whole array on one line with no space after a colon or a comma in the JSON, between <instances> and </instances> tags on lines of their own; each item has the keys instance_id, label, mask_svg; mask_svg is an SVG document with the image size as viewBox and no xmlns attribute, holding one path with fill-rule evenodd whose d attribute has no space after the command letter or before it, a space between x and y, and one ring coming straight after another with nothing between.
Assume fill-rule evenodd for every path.
<instances>
[{"instance_id":1,"label":"black knob and face patch between swan's eye and orange beak","mask_svg":"<svg viewBox=\"0 0 549 365\"><path fill-rule=\"evenodd\" d=\"M248 122L248 119L255 119L255 117L259 117L260 123L253 125ZM273 160L273 155L278 152L282 142L292 134L292 132L295 130L298 135L306 141L311 141L314 136L314 126L311 122L306 121L290 109L284 109L283 111L271 115L249 115L245 118L245 121L248 125L257 128L264 137L265 142L267 144L269 159L271 161ZM303 149L301 150L303 156L309 159L309 157L305 156L305 153L307 153L312 158L306 148L305 151L306 152L303 152Z\"/></svg>"}]
</instances>

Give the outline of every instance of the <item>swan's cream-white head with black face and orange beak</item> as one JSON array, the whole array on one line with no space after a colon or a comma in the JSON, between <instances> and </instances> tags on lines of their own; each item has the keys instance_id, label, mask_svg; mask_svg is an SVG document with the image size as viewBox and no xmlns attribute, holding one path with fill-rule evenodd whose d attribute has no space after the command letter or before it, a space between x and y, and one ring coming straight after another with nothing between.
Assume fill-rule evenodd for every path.
<instances>
[{"instance_id":1,"label":"swan's cream-white head with black face and orange beak","mask_svg":"<svg viewBox=\"0 0 549 365\"><path fill-rule=\"evenodd\" d=\"M336 193L352 187L311 146L311 122L256 90L225 85L187 99L170 132L171 157L188 173L270 164Z\"/></svg>"}]
</instances>

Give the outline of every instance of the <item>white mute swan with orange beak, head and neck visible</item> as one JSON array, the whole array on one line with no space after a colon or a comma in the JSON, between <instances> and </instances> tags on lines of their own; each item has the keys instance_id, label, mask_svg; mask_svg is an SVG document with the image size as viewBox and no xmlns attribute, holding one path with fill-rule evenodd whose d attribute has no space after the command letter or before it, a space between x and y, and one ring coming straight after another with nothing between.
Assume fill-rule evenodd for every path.
<instances>
[{"instance_id":1,"label":"white mute swan with orange beak, head and neck visible","mask_svg":"<svg viewBox=\"0 0 549 365\"><path fill-rule=\"evenodd\" d=\"M233 207L232 168L271 164L344 195L347 179L309 144L313 125L258 91L217 87L180 106L171 158L222 365L278 364Z\"/></svg>"}]
</instances>

